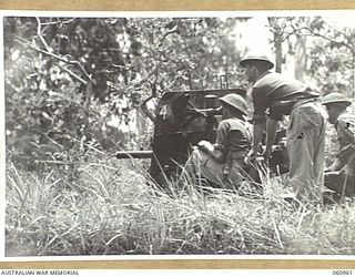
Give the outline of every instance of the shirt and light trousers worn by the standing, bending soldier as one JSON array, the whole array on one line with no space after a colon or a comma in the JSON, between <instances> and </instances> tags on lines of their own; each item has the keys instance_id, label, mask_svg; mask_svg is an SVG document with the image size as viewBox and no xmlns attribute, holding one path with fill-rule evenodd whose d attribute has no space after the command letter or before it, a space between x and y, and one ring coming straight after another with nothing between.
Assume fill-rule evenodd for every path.
<instances>
[{"instance_id":1,"label":"shirt and light trousers worn by the standing, bending soldier","mask_svg":"<svg viewBox=\"0 0 355 277\"><path fill-rule=\"evenodd\" d=\"M254 123L266 115L281 121L290 115L286 147L290 156L290 184L301 199L320 201L324 182L326 112L318 94L297 80L266 71L254 83Z\"/></svg>"}]
</instances>

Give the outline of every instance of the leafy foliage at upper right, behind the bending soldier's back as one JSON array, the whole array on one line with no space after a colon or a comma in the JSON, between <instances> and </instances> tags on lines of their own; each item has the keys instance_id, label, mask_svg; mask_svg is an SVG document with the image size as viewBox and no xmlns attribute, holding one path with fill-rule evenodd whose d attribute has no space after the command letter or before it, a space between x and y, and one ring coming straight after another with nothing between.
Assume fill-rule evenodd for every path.
<instances>
[{"instance_id":1,"label":"leafy foliage at upper right, behind the bending soldier's back","mask_svg":"<svg viewBox=\"0 0 355 277\"><path fill-rule=\"evenodd\" d=\"M332 19L323 17L272 18L270 22L274 38L278 38L287 50L281 53L283 62L286 61L286 55L295 54L295 39L301 37L307 45L303 55L307 58L304 69L307 80L322 94L341 92L354 96L354 28L338 27Z\"/></svg>"}]
</instances>

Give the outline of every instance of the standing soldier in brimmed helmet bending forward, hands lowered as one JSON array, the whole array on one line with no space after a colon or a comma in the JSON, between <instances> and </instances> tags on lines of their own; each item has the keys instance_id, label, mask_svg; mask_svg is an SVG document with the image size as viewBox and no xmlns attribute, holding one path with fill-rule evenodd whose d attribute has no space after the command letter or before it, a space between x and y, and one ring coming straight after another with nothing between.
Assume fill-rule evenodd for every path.
<instances>
[{"instance_id":1,"label":"standing soldier in brimmed helmet bending forward, hands lowered","mask_svg":"<svg viewBox=\"0 0 355 277\"><path fill-rule=\"evenodd\" d=\"M277 122L290 115L286 147L290 184L300 201L322 202L326 111L320 94L294 79L271 72L274 63L266 55L250 55L240 62L253 83L253 145L245 161L251 163L266 129L266 161L275 141Z\"/></svg>"}]
</instances>

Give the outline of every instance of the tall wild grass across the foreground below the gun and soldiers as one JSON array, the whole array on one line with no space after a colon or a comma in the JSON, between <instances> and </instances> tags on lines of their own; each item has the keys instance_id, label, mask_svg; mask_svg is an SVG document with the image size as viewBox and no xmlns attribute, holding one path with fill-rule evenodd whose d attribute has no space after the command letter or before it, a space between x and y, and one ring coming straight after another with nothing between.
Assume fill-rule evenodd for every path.
<instances>
[{"instance_id":1,"label":"tall wild grass across the foreground below the gun and soldiers","mask_svg":"<svg viewBox=\"0 0 355 277\"><path fill-rule=\"evenodd\" d=\"M97 153L68 166L8 162L7 256L355 254L354 203L294 205L276 178L260 195L203 193L189 177L168 193L139 161Z\"/></svg>"}]
</instances>

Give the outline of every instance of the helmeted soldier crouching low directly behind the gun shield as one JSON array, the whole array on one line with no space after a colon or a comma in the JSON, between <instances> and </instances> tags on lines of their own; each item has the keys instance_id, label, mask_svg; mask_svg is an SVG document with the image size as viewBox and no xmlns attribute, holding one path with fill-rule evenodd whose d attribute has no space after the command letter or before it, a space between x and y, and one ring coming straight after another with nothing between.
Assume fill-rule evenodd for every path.
<instances>
[{"instance_id":1,"label":"helmeted soldier crouching low directly behind the gun shield","mask_svg":"<svg viewBox=\"0 0 355 277\"><path fill-rule=\"evenodd\" d=\"M252 133L247 127L246 102L237 94L227 94L220 99L223 120L216 131L216 142L201 141L192 152L187 166L193 173L223 187L237 186L243 179L247 165L244 157L251 147ZM233 183L233 184L232 184Z\"/></svg>"}]
</instances>

